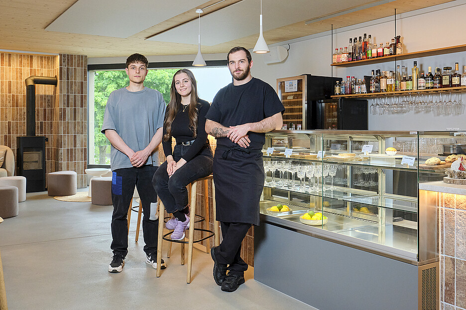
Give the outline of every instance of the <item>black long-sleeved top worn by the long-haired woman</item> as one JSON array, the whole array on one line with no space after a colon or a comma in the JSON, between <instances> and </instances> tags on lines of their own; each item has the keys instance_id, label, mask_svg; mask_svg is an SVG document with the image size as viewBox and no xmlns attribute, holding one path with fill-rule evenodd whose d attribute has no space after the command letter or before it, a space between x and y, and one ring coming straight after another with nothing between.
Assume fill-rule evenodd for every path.
<instances>
[{"instance_id":1,"label":"black long-sleeved top worn by the long-haired woman","mask_svg":"<svg viewBox=\"0 0 466 310\"><path fill-rule=\"evenodd\" d=\"M210 104L207 101L198 99L198 124L196 128L197 135L196 140L183 156L183 159L186 161L193 159L207 142L206 113L209 110L209 107ZM167 130L165 126L163 126L163 135L165 135L165 133L167 133ZM175 119L173 119L171 125L171 135L175 138L177 143L188 142L194 139L194 133L191 128L189 128L188 108L186 108L183 112L182 104L180 104L178 113L176 113ZM167 142L162 139L162 147L163 152L165 153L165 157L172 155L171 140Z\"/></svg>"}]
</instances>

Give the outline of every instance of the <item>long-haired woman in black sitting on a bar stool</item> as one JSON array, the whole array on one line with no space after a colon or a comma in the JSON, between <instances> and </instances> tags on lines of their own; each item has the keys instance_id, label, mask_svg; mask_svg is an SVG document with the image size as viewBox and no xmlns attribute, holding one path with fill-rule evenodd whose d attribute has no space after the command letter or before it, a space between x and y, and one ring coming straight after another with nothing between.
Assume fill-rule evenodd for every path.
<instances>
[{"instance_id":1,"label":"long-haired woman in black sitting on a bar stool","mask_svg":"<svg viewBox=\"0 0 466 310\"><path fill-rule=\"evenodd\" d=\"M193 73L188 69L178 70L173 76L163 122L162 146L167 160L152 179L165 209L173 214L165 224L167 229L174 229L170 236L173 240L182 240L189 227L186 186L212 173L213 155L205 130L209 107L207 101L198 97ZM173 152L172 137L176 139Z\"/></svg>"}]
</instances>

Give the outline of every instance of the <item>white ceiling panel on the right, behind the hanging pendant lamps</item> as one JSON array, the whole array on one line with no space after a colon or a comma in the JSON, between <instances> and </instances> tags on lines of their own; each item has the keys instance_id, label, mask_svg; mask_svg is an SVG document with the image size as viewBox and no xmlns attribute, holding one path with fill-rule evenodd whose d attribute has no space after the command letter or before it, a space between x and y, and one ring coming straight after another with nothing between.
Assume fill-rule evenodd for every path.
<instances>
[{"instance_id":1,"label":"white ceiling panel on the right, behind the hanging pendant lamps","mask_svg":"<svg viewBox=\"0 0 466 310\"><path fill-rule=\"evenodd\" d=\"M361 6L373 0L263 0L264 31L295 22L332 14L336 11ZM323 5L325 3L325 5ZM259 33L259 0L242 0L223 9L202 16L201 44L214 46ZM303 23L304 26L304 23ZM199 20L193 20L170 29L148 40L197 44Z\"/></svg>"}]
</instances>

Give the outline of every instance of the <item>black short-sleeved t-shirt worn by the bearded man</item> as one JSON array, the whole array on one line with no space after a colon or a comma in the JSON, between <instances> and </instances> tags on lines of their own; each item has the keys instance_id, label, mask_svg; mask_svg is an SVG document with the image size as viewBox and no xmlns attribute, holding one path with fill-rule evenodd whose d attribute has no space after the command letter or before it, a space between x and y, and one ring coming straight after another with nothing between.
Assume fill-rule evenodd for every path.
<instances>
[{"instance_id":1,"label":"black short-sleeved t-shirt worn by the bearded man","mask_svg":"<svg viewBox=\"0 0 466 310\"><path fill-rule=\"evenodd\" d=\"M259 79L252 78L246 84L234 86L231 83L222 88L215 95L206 118L230 127L258 122L284 110L285 107L273 88ZM249 131L248 136L251 140L248 148L262 148L265 133ZM227 137L217 139L217 146L235 145L237 144Z\"/></svg>"}]
</instances>

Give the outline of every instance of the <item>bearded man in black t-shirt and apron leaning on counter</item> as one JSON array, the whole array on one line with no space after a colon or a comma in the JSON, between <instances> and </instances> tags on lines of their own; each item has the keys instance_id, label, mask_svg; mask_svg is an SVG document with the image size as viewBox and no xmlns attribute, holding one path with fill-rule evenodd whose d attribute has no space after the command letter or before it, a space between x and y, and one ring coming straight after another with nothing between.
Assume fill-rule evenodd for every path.
<instances>
[{"instance_id":1,"label":"bearded man in black t-shirt and apron leaning on counter","mask_svg":"<svg viewBox=\"0 0 466 310\"><path fill-rule=\"evenodd\" d=\"M247 270L240 257L241 242L251 225L259 225L264 133L281 129L285 108L270 85L251 76L247 49L234 47L227 60L233 83L215 96L206 115L206 131L217 138L213 170L223 236L222 243L211 249L214 280L222 291L233 292L244 283Z\"/></svg>"}]
</instances>

